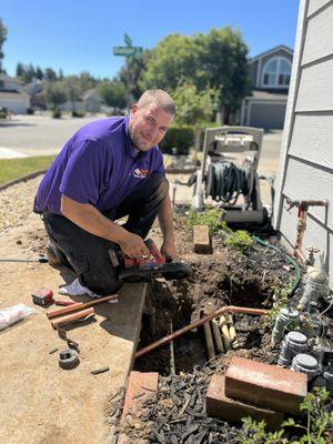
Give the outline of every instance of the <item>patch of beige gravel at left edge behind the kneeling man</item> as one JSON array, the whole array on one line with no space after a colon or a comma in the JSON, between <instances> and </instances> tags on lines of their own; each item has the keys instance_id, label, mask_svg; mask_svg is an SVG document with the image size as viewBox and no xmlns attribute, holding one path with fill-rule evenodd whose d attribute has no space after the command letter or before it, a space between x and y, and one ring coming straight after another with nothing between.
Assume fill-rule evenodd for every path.
<instances>
[{"instance_id":1,"label":"patch of beige gravel at left edge behind the kneeling man","mask_svg":"<svg viewBox=\"0 0 333 444\"><path fill-rule=\"evenodd\" d=\"M42 176L11 185L0 191L0 233L22 225L31 214L36 191Z\"/></svg>"}]
</instances>

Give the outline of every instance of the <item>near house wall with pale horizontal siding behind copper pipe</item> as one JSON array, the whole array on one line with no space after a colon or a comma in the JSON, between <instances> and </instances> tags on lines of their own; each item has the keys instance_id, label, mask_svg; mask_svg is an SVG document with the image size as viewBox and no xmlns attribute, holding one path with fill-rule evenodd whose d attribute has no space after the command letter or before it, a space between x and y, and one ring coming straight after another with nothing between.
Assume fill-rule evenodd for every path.
<instances>
[{"instance_id":1,"label":"near house wall with pale horizontal siding behind copper pipe","mask_svg":"<svg viewBox=\"0 0 333 444\"><path fill-rule=\"evenodd\" d=\"M294 245L297 209L286 199L327 200L310 206L302 251L325 255L333 287L333 2L301 0L295 54L275 186L274 228Z\"/></svg>"}]
</instances>

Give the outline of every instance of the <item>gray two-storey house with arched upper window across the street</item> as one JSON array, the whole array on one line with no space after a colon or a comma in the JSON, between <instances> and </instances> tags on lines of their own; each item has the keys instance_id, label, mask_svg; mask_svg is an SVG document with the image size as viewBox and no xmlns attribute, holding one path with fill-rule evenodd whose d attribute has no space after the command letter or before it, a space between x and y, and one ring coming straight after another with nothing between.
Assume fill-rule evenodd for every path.
<instances>
[{"instance_id":1,"label":"gray two-storey house with arched upper window across the street","mask_svg":"<svg viewBox=\"0 0 333 444\"><path fill-rule=\"evenodd\" d=\"M250 60L253 91L242 102L241 125L283 128L292 60L293 50L283 44Z\"/></svg>"}]
</instances>

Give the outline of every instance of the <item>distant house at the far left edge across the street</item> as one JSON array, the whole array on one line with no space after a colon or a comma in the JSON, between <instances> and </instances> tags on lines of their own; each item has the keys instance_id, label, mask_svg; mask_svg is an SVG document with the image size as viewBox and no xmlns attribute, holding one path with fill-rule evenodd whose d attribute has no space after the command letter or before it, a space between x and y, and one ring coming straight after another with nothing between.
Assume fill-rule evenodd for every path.
<instances>
[{"instance_id":1,"label":"distant house at the far left edge across the street","mask_svg":"<svg viewBox=\"0 0 333 444\"><path fill-rule=\"evenodd\" d=\"M16 114L27 114L30 97L21 83L7 74L0 74L0 108L7 108Z\"/></svg>"}]
</instances>

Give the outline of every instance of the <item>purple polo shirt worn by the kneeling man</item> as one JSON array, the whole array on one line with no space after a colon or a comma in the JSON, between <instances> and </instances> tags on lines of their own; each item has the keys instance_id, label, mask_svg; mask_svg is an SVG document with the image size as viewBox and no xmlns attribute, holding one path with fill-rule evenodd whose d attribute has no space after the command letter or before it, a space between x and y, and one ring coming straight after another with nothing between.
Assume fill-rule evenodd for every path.
<instances>
[{"instance_id":1,"label":"purple polo shirt worn by the kneeling man","mask_svg":"<svg viewBox=\"0 0 333 444\"><path fill-rule=\"evenodd\" d=\"M158 147L135 153L128 115L97 120L64 144L39 185L33 211L61 214L61 194L111 210L155 171L165 174L162 154Z\"/></svg>"}]
</instances>

